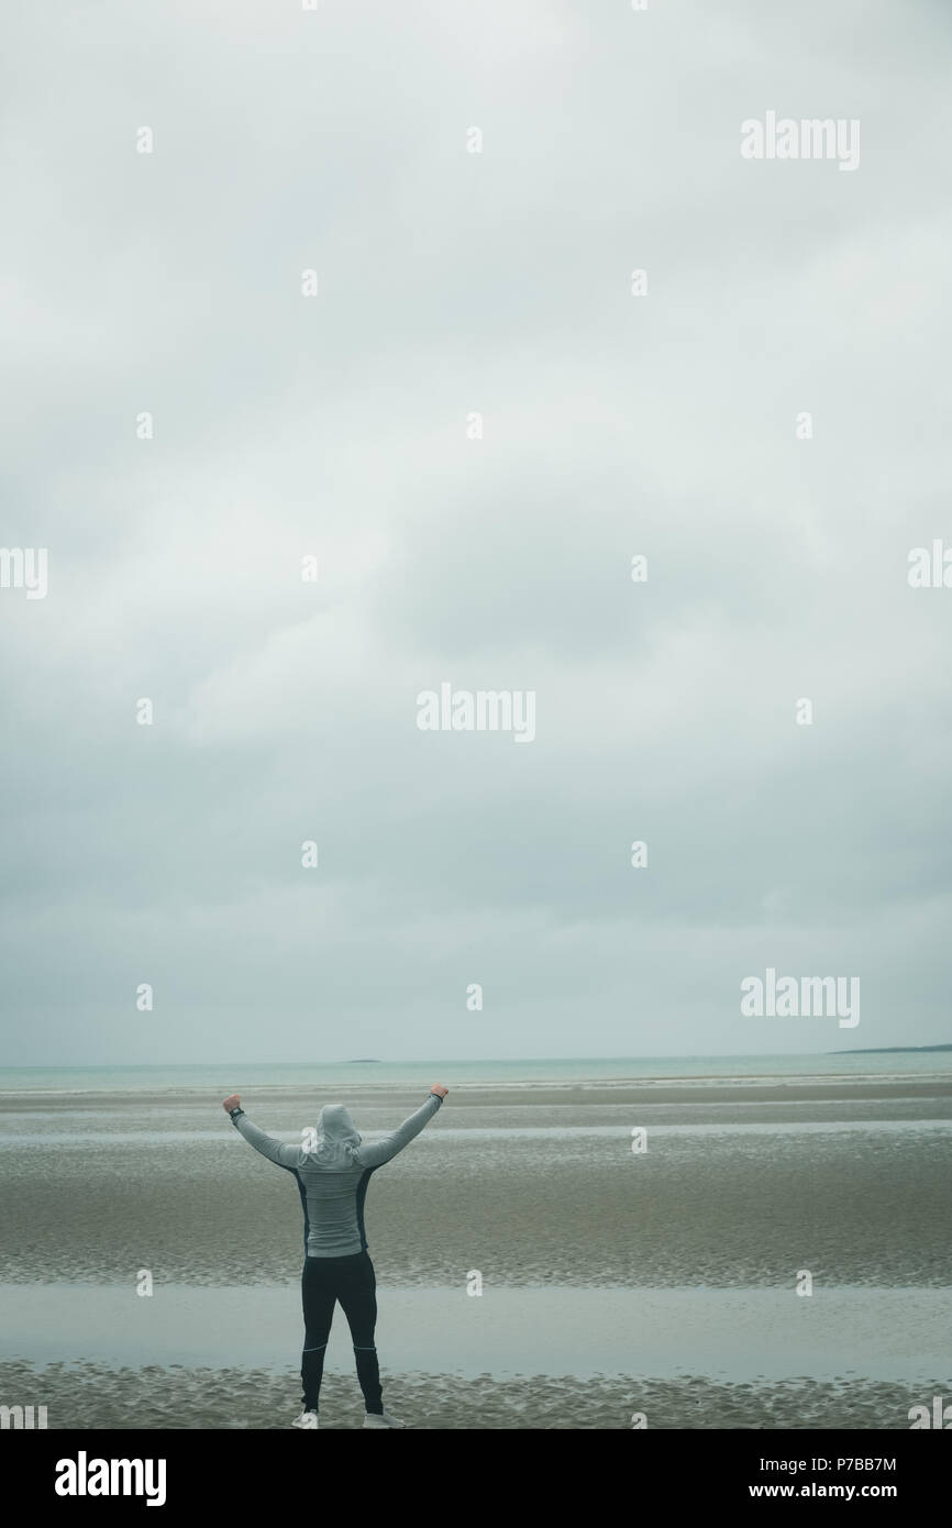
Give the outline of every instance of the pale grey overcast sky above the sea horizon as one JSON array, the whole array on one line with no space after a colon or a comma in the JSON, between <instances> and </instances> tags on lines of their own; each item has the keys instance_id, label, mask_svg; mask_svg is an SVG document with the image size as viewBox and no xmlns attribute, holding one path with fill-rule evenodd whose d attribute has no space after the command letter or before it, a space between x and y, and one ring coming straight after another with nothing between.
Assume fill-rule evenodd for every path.
<instances>
[{"instance_id":1,"label":"pale grey overcast sky above the sea horizon","mask_svg":"<svg viewBox=\"0 0 952 1528\"><path fill-rule=\"evenodd\" d=\"M8 11L8 1063L952 1039L952 588L906 578L950 44L928 0ZM743 159L767 112L859 167ZM419 730L443 681L535 740ZM860 1024L744 1018L769 966Z\"/></svg>"}]
</instances>

